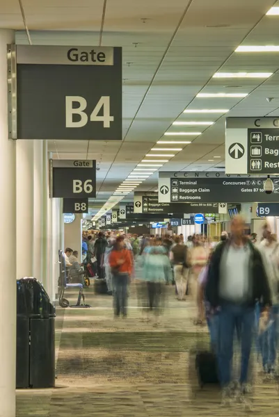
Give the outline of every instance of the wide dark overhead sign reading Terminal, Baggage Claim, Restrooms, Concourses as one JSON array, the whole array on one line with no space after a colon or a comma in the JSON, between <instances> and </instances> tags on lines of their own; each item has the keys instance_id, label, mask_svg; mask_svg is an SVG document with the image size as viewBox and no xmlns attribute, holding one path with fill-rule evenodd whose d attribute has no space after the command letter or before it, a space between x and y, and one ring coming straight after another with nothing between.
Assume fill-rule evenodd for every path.
<instances>
[{"instance_id":1,"label":"wide dark overhead sign reading Terminal, Baggage Claim, Restrooms, Concourses","mask_svg":"<svg viewBox=\"0 0 279 417\"><path fill-rule=\"evenodd\" d=\"M159 172L159 190L164 184L169 188L168 194L159 193L159 202L173 202L174 205L176 202L278 202L279 179L273 179L272 194L264 193L265 180L266 176L228 175L221 172ZM212 209L207 211L214 213Z\"/></svg>"}]
</instances>

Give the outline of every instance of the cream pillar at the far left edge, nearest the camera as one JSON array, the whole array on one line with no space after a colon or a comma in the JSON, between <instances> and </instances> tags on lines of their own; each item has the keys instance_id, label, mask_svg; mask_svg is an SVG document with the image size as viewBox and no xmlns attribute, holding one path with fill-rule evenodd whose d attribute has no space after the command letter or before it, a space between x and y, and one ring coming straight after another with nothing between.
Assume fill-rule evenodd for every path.
<instances>
[{"instance_id":1,"label":"cream pillar at the far left edge, nearest the camera","mask_svg":"<svg viewBox=\"0 0 279 417\"><path fill-rule=\"evenodd\" d=\"M0 30L0 236L3 262L0 277L0 416L15 417L15 141L8 140L7 44L13 31ZM24 251L24 238L22 239ZM27 256L28 254L25 254Z\"/></svg>"}]
</instances>

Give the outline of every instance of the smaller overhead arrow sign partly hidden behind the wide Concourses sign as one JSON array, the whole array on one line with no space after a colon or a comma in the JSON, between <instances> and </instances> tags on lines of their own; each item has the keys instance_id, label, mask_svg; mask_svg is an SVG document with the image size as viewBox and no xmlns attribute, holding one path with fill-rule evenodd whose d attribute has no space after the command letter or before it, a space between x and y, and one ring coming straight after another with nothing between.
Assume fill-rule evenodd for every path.
<instances>
[{"instance_id":1,"label":"smaller overhead arrow sign partly hidden behind the wide Concourses sign","mask_svg":"<svg viewBox=\"0 0 279 417\"><path fill-rule=\"evenodd\" d=\"M175 180L178 181L178 180ZM134 213L218 213L217 203L159 203L158 193L134 193Z\"/></svg>"}]
</instances>

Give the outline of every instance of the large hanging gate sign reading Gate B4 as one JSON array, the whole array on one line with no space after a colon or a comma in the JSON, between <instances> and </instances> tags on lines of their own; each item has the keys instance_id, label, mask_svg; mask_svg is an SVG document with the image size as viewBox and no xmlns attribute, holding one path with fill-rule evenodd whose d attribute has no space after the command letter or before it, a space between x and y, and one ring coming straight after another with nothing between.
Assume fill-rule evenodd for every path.
<instances>
[{"instance_id":1,"label":"large hanging gate sign reading Gate B4","mask_svg":"<svg viewBox=\"0 0 279 417\"><path fill-rule=\"evenodd\" d=\"M122 140L122 49L8 45L10 139Z\"/></svg>"}]
</instances>

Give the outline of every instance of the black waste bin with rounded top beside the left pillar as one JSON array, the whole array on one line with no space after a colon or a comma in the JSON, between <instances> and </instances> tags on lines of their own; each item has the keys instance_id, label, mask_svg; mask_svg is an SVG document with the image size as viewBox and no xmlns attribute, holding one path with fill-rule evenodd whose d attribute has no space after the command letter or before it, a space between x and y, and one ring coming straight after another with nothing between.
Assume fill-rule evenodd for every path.
<instances>
[{"instance_id":1,"label":"black waste bin with rounded top beside the left pillar","mask_svg":"<svg viewBox=\"0 0 279 417\"><path fill-rule=\"evenodd\" d=\"M17 280L17 388L55 385L55 316L37 279Z\"/></svg>"}]
</instances>

